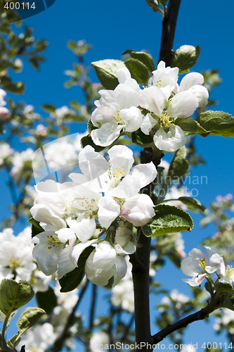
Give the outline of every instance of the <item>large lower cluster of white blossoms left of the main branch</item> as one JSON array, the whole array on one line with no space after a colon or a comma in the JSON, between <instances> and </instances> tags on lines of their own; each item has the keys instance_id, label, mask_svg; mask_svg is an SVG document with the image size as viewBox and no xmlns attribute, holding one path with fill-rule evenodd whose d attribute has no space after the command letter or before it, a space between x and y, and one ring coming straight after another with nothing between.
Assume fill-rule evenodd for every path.
<instances>
[{"instance_id":1,"label":"large lower cluster of white blossoms left of the main branch","mask_svg":"<svg viewBox=\"0 0 234 352\"><path fill-rule=\"evenodd\" d=\"M100 286L126 274L126 254L136 249L133 226L145 225L155 215L154 204L140 189L157 175L151 162L134 164L126 146L113 146L109 161L91 146L79 153L79 169L72 182L39 182L31 208L41 225L33 238L33 256L46 275L58 279L77 268L82 252L93 247L86 260L86 277Z\"/></svg>"}]
</instances>

